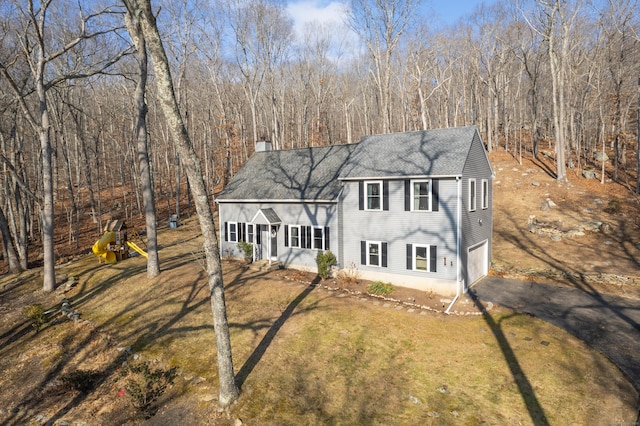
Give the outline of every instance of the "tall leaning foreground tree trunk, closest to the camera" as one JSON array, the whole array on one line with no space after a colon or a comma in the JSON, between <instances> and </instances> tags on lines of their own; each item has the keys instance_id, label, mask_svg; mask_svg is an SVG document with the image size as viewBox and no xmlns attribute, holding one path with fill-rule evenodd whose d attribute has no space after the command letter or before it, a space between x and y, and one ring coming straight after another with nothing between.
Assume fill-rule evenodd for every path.
<instances>
[{"instance_id":1,"label":"tall leaning foreground tree trunk, closest to the camera","mask_svg":"<svg viewBox=\"0 0 640 426\"><path fill-rule=\"evenodd\" d=\"M180 160L187 173L196 211L200 219L200 230L204 239L204 252L207 261L213 325L216 334L218 378L220 381L218 402L221 406L226 407L238 398L239 389L233 372L231 339L222 281L222 265L211 206L209 205L198 157L193 149L193 144L189 139L189 134L184 126L176 102L169 61L156 26L155 17L151 11L151 1L123 1L129 11L134 16L139 17L142 24L142 32L149 46L149 54L154 64L160 105L164 111L167 126L173 136L176 149L180 154Z\"/></svg>"}]
</instances>

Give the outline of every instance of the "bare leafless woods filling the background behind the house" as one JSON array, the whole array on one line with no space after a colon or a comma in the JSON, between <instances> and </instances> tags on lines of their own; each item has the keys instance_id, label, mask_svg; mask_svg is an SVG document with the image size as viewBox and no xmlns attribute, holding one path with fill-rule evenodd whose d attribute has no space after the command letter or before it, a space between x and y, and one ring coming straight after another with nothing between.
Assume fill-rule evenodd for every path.
<instances>
[{"instance_id":1,"label":"bare leafless woods filling the background behind the house","mask_svg":"<svg viewBox=\"0 0 640 426\"><path fill-rule=\"evenodd\" d=\"M97 234L116 211L144 215L140 57L124 3L0 3L0 232L16 267L28 267L30 243L52 241L54 220L77 245L87 217ZM555 158L559 182L593 168L640 192L637 0L500 1L449 27L418 13L419 0L353 0L344 26L303 34L275 0L153 3L210 195L256 140L289 149L465 125L515 161ZM153 73L149 159L166 204L186 177Z\"/></svg>"}]
</instances>

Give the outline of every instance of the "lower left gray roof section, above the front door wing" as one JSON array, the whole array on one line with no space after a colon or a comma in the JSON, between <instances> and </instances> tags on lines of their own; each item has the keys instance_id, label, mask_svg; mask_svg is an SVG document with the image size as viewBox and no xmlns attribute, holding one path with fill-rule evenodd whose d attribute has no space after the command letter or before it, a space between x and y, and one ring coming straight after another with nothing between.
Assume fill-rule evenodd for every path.
<instances>
[{"instance_id":1,"label":"lower left gray roof section, above the front door wing","mask_svg":"<svg viewBox=\"0 0 640 426\"><path fill-rule=\"evenodd\" d=\"M217 200L334 201L338 176L356 145L256 152Z\"/></svg>"}]
</instances>

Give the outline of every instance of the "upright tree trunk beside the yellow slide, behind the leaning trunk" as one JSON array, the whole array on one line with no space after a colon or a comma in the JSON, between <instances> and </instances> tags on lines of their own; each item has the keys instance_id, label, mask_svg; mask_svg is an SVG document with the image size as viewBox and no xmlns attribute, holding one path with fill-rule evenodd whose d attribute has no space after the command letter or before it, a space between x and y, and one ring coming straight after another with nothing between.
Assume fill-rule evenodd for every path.
<instances>
[{"instance_id":1,"label":"upright tree trunk beside the yellow slide, behind the leaning trunk","mask_svg":"<svg viewBox=\"0 0 640 426\"><path fill-rule=\"evenodd\" d=\"M156 205L151 185L151 170L149 167L149 146L147 138L147 103L145 94L147 91L147 46L142 35L140 21L136 16L127 14L127 29L136 46L138 56L138 83L135 91L136 104L136 139L138 165L140 168L140 184L142 186L142 203L144 205L144 218L147 229L147 277L155 278L160 274L160 261L158 259L158 237L156 230Z\"/></svg>"}]
</instances>

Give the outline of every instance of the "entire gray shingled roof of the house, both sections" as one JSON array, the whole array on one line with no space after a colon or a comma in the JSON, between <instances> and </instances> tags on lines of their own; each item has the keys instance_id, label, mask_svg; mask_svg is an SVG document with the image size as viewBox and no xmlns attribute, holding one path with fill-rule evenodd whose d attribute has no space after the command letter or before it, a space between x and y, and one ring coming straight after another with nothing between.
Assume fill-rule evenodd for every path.
<instances>
[{"instance_id":1,"label":"entire gray shingled roof of the house, both sections","mask_svg":"<svg viewBox=\"0 0 640 426\"><path fill-rule=\"evenodd\" d=\"M333 201L340 180L460 176L475 126L365 136L357 144L256 152L219 201Z\"/></svg>"}]
</instances>

